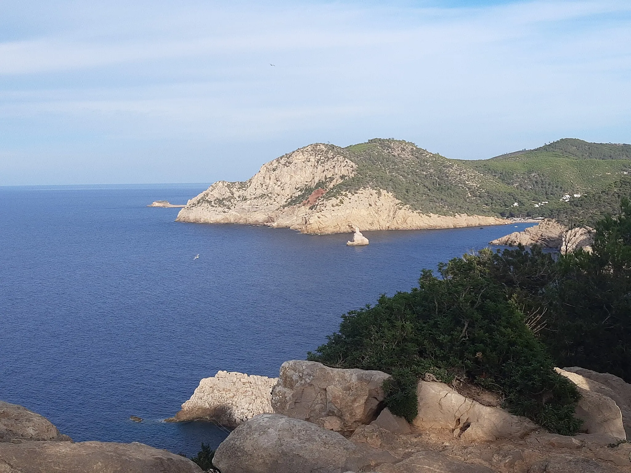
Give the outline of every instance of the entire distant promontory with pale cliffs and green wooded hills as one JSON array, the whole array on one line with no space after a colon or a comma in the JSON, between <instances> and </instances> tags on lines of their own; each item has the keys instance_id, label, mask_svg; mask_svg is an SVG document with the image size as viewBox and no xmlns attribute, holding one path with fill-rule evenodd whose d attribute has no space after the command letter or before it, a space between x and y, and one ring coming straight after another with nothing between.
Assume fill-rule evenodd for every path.
<instances>
[{"instance_id":1,"label":"entire distant promontory with pale cliffs and green wooded hills","mask_svg":"<svg viewBox=\"0 0 631 473\"><path fill-rule=\"evenodd\" d=\"M269 161L245 182L215 182L177 221L317 234L529 217L591 223L616 205L618 192L631 189L629 172L630 145L577 139L478 161L451 160L394 139L346 148L317 143Z\"/></svg>"}]
</instances>

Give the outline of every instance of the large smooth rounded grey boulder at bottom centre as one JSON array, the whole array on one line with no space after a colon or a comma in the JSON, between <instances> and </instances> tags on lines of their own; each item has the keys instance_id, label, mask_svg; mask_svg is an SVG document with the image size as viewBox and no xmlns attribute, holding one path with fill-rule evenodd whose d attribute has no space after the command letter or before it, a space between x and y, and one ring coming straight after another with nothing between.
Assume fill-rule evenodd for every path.
<instances>
[{"instance_id":1,"label":"large smooth rounded grey boulder at bottom centre","mask_svg":"<svg viewBox=\"0 0 631 473\"><path fill-rule=\"evenodd\" d=\"M221 473L343 473L396 460L310 422L260 414L221 442L213 464Z\"/></svg>"}]
</instances>

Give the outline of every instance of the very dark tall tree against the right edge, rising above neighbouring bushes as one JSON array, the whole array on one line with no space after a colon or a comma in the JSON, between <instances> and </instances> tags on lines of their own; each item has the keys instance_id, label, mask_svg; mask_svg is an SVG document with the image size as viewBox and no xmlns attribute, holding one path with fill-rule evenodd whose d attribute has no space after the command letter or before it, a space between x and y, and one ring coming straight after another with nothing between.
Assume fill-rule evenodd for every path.
<instances>
[{"instance_id":1,"label":"very dark tall tree against the right edge, rising above neighbouring bushes","mask_svg":"<svg viewBox=\"0 0 631 473\"><path fill-rule=\"evenodd\" d=\"M631 204L596 224L594 252L558 260L548 284L550 330L542 339L560 366L582 366L631 382Z\"/></svg>"}]
</instances>

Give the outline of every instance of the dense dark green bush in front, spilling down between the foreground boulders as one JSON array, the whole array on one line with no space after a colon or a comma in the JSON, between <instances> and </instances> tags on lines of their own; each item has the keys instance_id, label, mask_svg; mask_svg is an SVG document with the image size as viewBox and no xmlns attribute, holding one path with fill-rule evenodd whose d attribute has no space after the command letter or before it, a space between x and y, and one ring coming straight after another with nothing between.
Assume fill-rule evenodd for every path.
<instances>
[{"instance_id":1,"label":"dense dark green bush in front, spilling down between the foreground boulders","mask_svg":"<svg viewBox=\"0 0 631 473\"><path fill-rule=\"evenodd\" d=\"M418 288L349 312L309 359L390 373L386 405L408 421L417 414L417 380L432 373L497 392L510 412L553 432L576 433L576 388L553 370L545 346L491 277L485 255L441 264L440 278L423 270Z\"/></svg>"}]
</instances>

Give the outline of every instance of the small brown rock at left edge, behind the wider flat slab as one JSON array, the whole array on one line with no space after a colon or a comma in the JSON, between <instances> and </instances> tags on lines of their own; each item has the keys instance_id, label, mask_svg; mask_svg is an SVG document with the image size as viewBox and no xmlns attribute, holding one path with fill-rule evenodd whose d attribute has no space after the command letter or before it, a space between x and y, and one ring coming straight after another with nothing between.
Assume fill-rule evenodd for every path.
<instances>
[{"instance_id":1,"label":"small brown rock at left edge, behind the wider flat slab","mask_svg":"<svg viewBox=\"0 0 631 473\"><path fill-rule=\"evenodd\" d=\"M48 419L17 404L0 400L0 442L11 440L69 440Z\"/></svg>"}]
</instances>

